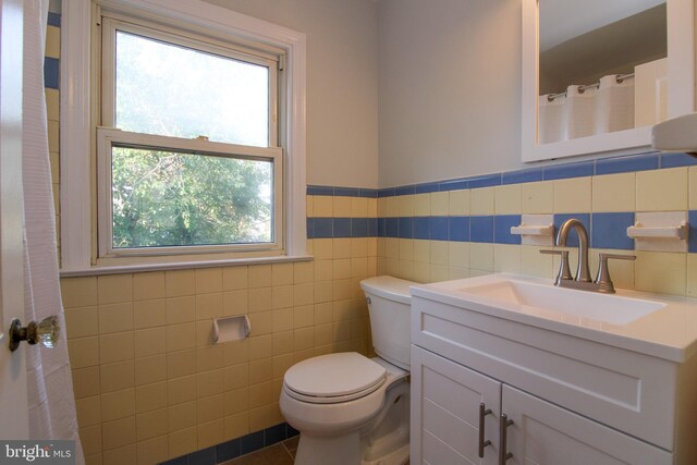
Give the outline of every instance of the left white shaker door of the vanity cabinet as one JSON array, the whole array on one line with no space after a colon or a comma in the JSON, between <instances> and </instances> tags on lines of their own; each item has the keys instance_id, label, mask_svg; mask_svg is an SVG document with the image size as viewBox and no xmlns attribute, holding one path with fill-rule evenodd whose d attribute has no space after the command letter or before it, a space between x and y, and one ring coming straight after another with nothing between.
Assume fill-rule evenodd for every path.
<instances>
[{"instance_id":1,"label":"left white shaker door of the vanity cabinet","mask_svg":"<svg viewBox=\"0 0 697 465\"><path fill-rule=\"evenodd\" d=\"M431 352L412 345L413 464L496 464L501 383ZM484 439L479 452L479 404Z\"/></svg>"}]
</instances>

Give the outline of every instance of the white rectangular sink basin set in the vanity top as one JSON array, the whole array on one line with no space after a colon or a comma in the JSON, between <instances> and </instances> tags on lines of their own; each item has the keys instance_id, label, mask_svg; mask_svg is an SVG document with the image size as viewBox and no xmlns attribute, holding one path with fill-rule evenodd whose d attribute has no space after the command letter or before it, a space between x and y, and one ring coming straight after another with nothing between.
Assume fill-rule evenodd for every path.
<instances>
[{"instance_id":1,"label":"white rectangular sink basin set in the vanity top","mask_svg":"<svg viewBox=\"0 0 697 465\"><path fill-rule=\"evenodd\" d=\"M442 284L465 301L474 297L480 303L527 314L547 317L561 314L613 325L629 323L665 306L656 301L557 287L502 274L455 282L458 284L454 286Z\"/></svg>"}]
</instances>

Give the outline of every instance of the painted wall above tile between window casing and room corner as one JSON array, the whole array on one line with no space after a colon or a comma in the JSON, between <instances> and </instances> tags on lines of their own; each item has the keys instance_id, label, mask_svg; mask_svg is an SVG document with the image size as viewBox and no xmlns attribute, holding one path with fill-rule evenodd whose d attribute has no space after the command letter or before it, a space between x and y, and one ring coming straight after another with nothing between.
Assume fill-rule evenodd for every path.
<instances>
[{"instance_id":1,"label":"painted wall above tile between window casing and room corner","mask_svg":"<svg viewBox=\"0 0 697 465\"><path fill-rule=\"evenodd\" d=\"M206 0L307 35L307 183L378 187L372 0Z\"/></svg>"}]
</instances>

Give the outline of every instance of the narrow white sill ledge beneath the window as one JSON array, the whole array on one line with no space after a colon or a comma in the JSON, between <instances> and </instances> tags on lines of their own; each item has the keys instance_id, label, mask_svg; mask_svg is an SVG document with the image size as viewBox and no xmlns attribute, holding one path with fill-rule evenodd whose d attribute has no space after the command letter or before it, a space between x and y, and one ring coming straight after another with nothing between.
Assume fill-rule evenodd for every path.
<instances>
[{"instance_id":1,"label":"narrow white sill ledge beneath the window","mask_svg":"<svg viewBox=\"0 0 697 465\"><path fill-rule=\"evenodd\" d=\"M231 258L223 260L205 260L205 261L179 261L171 264L148 264L148 265L123 265L123 266L96 266L85 269L60 271L61 278L93 277L103 274L125 274L140 273L148 271L170 271L196 268L216 268L216 267L236 267L247 265L268 265L284 264L293 261L310 261L311 255L297 256L278 256L278 257L250 257L250 258Z\"/></svg>"}]
</instances>

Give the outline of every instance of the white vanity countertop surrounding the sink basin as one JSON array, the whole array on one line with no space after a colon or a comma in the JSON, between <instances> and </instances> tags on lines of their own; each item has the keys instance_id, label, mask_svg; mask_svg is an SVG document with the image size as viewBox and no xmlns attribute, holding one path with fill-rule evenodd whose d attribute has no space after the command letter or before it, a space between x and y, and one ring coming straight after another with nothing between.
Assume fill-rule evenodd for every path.
<instances>
[{"instance_id":1,"label":"white vanity countertop surrounding the sink basin","mask_svg":"<svg viewBox=\"0 0 697 465\"><path fill-rule=\"evenodd\" d=\"M506 279L553 286L551 280L503 273L415 285L411 287L411 293L412 296L464 307L671 362L683 363L697 353L697 298L616 290L616 294L610 295L609 298L620 296L645 301L644 304L646 301L659 303L663 306L634 321L611 323L467 293L467 287L487 285ZM560 291L563 291L564 297L583 293L578 295L579 299L588 296L592 301L590 295L598 295L588 291L568 289ZM563 298L560 301L559 305L564 305Z\"/></svg>"}]
</instances>

